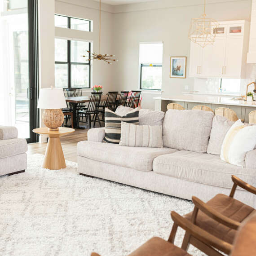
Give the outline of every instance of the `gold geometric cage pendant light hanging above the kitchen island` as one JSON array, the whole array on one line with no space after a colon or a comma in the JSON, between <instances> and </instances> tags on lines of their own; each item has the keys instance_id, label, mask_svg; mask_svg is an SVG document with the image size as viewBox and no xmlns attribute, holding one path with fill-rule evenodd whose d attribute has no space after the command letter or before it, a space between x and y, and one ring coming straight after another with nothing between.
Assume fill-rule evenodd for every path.
<instances>
[{"instance_id":1,"label":"gold geometric cage pendant light hanging above the kitchen island","mask_svg":"<svg viewBox=\"0 0 256 256\"><path fill-rule=\"evenodd\" d=\"M213 44L219 26L220 24L216 20L206 18L204 0L203 15L200 18L191 19L188 37L191 41L202 47L207 44Z\"/></svg>"}]
</instances>

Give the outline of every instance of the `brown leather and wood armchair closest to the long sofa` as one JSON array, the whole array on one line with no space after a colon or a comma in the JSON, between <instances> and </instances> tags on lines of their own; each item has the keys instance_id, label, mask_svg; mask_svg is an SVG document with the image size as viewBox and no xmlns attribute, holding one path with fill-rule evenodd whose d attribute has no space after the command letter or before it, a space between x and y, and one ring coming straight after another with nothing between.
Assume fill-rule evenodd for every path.
<instances>
[{"instance_id":1,"label":"brown leather and wood armchair closest to the long sofa","mask_svg":"<svg viewBox=\"0 0 256 256\"><path fill-rule=\"evenodd\" d=\"M256 213L254 208L234 199L237 186L252 194L256 194L256 187L247 184L234 175L232 175L232 181L234 185L229 196L217 194L207 203L193 196L194 211L184 216L187 220L199 226L199 228L229 244L234 243L234 237L241 226L241 222L247 219L248 216ZM174 224L169 238L169 241L172 243L174 242L176 231L177 225ZM186 232L182 248L186 251L189 244L194 245L206 254L209 253L209 250L217 249L216 247L206 246L192 237L191 233Z\"/></svg>"}]
</instances>

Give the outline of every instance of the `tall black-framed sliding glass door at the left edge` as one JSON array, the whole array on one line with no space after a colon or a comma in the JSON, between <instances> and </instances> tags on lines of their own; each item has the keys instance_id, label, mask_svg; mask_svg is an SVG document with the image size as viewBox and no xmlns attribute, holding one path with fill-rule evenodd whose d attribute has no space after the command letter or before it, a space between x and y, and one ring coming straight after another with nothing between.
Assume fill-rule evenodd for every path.
<instances>
[{"instance_id":1,"label":"tall black-framed sliding glass door at the left edge","mask_svg":"<svg viewBox=\"0 0 256 256\"><path fill-rule=\"evenodd\" d=\"M0 0L0 125L36 141L36 0Z\"/></svg>"}]
</instances>

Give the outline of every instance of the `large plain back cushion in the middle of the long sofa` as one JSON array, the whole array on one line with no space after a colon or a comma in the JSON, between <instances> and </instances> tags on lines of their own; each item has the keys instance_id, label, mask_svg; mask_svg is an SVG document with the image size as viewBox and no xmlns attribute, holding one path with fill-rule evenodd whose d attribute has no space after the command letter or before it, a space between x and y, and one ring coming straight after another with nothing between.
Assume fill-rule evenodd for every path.
<instances>
[{"instance_id":1,"label":"large plain back cushion in the middle of the long sofa","mask_svg":"<svg viewBox=\"0 0 256 256\"><path fill-rule=\"evenodd\" d=\"M201 110L167 110L163 120L163 146L206 153L213 113Z\"/></svg>"}]
</instances>

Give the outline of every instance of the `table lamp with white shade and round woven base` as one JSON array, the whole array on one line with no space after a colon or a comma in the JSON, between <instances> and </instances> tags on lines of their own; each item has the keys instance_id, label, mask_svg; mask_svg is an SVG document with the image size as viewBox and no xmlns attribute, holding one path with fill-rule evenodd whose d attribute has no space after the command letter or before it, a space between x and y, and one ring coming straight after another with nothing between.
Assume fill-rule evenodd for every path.
<instances>
[{"instance_id":1,"label":"table lamp with white shade and round woven base","mask_svg":"<svg viewBox=\"0 0 256 256\"><path fill-rule=\"evenodd\" d=\"M66 100L62 88L40 89L37 107L44 109L43 121L50 131L57 131L64 121Z\"/></svg>"}]
</instances>

